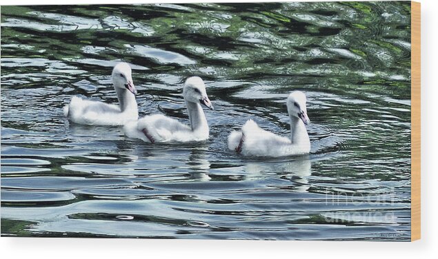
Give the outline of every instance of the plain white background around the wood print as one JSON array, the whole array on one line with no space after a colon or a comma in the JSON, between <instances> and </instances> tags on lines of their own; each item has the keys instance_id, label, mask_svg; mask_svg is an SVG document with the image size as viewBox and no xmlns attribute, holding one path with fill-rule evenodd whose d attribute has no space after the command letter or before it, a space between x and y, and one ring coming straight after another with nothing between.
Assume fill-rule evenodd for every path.
<instances>
[{"instance_id":1,"label":"plain white background around the wood print","mask_svg":"<svg viewBox=\"0 0 438 259\"><path fill-rule=\"evenodd\" d=\"M195 2L226 1L195 1ZM257 1L257 0L256 0ZM239 0L235 2L256 2ZM270 0L265 0L265 2ZM1 5L150 3L121 0L2 0ZM161 3L194 1L159 0ZM230 1L228 1L230 2ZM331 242L255 240L148 240L83 238L0 238L1 258L432 258L438 254L438 1L421 0L421 240L416 242ZM435 80L434 80L435 79Z\"/></svg>"}]
</instances>

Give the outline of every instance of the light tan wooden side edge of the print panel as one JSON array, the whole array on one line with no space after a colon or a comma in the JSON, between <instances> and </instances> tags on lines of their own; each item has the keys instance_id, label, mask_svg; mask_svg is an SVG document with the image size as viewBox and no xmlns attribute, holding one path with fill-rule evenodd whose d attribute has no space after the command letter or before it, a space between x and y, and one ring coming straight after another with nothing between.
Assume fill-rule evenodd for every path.
<instances>
[{"instance_id":1,"label":"light tan wooden side edge of the print panel","mask_svg":"<svg viewBox=\"0 0 438 259\"><path fill-rule=\"evenodd\" d=\"M410 240L421 238L421 5L411 1L411 193Z\"/></svg>"}]
</instances>

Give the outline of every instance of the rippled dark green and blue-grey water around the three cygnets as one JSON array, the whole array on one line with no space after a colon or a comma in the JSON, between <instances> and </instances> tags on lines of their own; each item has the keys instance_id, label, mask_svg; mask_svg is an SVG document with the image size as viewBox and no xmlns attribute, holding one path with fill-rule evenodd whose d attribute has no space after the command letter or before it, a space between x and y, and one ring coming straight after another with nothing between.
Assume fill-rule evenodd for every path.
<instances>
[{"instance_id":1,"label":"rippled dark green and blue-grey water around the three cygnets","mask_svg":"<svg viewBox=\"0 0 438 259\"><path fill-rule=\"evenodd\" d=\"M139 114L187 121L183 80L215 111L199 145L72 125L132 64ZM287 135L308 96L309 156L226 150L252 118ZM273 147L275 148L275 147ZM410 239L410 2L1 8L4 236Z\"/></svg>"}]
</instances>

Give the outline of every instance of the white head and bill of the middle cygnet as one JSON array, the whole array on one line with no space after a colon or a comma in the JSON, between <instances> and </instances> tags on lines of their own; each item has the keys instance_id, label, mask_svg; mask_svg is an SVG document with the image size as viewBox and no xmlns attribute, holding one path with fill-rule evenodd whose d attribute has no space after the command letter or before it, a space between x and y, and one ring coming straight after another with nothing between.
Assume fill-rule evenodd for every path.
<instances>
[{"instance_id":1,"label":"white head and bill of the middle cygnet","mask_svg":"<svg viewBox=\"0 0 438 259\"><path fill-rule=\"evenodd\" d=\"M213 105L208 99L206 85L199 76L192 76L186 80L183 88L184 100L190 103L201 103L210 110L214 110Z\"/></svg>"}]
</instances>

